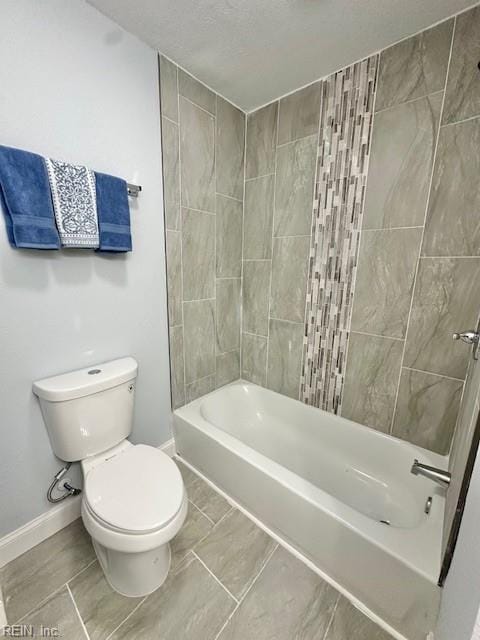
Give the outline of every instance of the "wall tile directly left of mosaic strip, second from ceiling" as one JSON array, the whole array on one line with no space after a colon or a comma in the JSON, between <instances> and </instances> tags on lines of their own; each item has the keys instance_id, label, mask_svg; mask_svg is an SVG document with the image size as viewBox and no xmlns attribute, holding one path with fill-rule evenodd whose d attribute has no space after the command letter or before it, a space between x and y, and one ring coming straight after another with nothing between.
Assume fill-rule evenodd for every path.
<instances>
[{"instance_id":1,"label":"wall tile directly left of mosaic strip, second from ceiling","mask_svg":"<svg viewBox=\"0 0 480 640\"><path fill-rule=\"evenodd\" d=\"M277 148L276 236L310 235L316 160L316 135Z\"/></svg>"}]
</instances>

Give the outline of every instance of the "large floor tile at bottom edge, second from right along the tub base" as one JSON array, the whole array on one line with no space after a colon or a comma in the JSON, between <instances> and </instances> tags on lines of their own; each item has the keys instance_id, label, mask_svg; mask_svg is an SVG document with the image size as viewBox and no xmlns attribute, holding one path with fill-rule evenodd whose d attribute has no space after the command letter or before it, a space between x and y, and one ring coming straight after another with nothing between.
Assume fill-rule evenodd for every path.
<instances>
[{"instance_id":1,"label":"large floor tile at bottom edge, second from right along the tub base","mask_svg":"<svg viewBox=\"0 0 480 640\"><path fill-rule=\"evenodd\" d=\"M279 547L219 640L323 640L338 597L335 589Z\"/></svg>"}]
</instances>

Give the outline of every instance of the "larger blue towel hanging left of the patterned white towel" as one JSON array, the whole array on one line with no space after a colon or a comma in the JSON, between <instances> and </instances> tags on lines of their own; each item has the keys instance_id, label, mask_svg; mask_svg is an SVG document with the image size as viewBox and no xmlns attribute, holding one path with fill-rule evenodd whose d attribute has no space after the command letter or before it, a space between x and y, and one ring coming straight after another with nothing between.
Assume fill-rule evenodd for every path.
<instances>
[{"instance_id":1,"label":"larger blue towel hanging left of the patterned white towel","mask_svg":"<svg viewBox=\"0 0 480 640\"><path fill-rule=\"evenodd\" d=\"M0 201L12 247L60 247L47 169L41 156L0 145Z\"/></svg>"}]
</instances>

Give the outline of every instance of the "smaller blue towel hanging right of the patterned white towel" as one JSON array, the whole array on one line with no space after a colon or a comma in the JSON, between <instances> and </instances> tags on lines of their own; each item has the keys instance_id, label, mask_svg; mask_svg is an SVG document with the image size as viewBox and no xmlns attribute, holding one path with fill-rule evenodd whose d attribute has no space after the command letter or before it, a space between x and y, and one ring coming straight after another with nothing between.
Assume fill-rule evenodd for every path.
<instances>
[{"instance_id":1,"label":"smaller blue towel hanging right of the patterned white towel","mask_svg":"<svg viewBox=\"0 0 480 640\"><path fill-rule=\"evenodd\" d=\"M95 173L99 251L131 251L130 207L127 183L105 173Z\"/></svg>"}]
</instances>

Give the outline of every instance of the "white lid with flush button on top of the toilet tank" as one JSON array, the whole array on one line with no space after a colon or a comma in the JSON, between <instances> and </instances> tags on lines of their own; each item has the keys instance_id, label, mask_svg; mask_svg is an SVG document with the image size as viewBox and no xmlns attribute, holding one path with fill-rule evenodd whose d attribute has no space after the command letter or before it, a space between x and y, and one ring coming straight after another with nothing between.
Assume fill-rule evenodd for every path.
<instances>
[{"instance_id":1,"label":"white lid with flush button on top of the toilet tank","mask_svg":"<svg viewBox=\"0 0 480 640\"><path fill-rule=\"evenodd\" d=\"M132 380L137 376L137 369L135 358L119 358L37 380L33 383L33 392L39 398L50 402L73 400Z\"/></svg>"}]
</instances>

